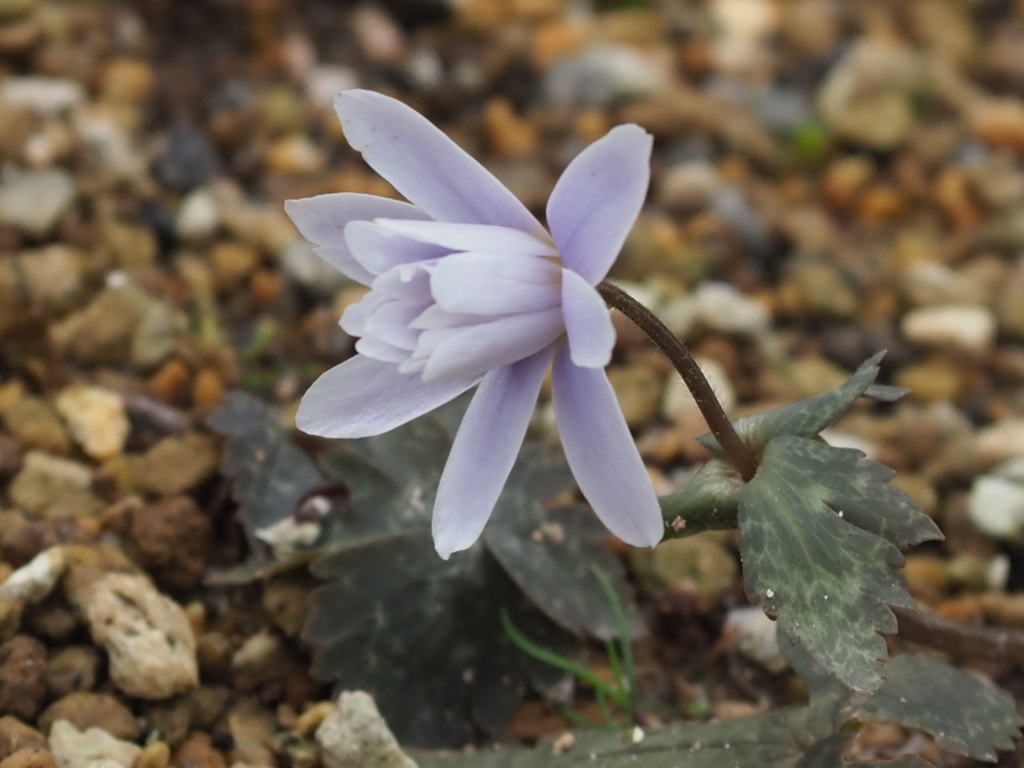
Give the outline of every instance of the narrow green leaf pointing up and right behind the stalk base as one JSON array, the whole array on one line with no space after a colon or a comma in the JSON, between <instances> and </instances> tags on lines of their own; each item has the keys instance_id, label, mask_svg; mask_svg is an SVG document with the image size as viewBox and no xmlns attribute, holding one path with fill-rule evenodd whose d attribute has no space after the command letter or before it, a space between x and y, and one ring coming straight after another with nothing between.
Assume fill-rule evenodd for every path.
<instances>
[{"instance_id":1,"label":"narrow green leaf pointing up and right behind the stalk base","mask_svg":"<svg viewBox=\"0 0 1024 768\"><path fill-rule=\"evenodd\" d=\"M732 426L740 439L759 454L773 437L785 434L803 437L817 435L845 414L861 395L882 400L898 398L905 390L874 384L879 375L879 362L884 356L885 352L879 352L864 361L853 376L830 392L808 397L775 411L744 416L736 419ZM697 440L709 451L724 458L718 440L710 433L700 435Z\"/></svg>"}]
</instances>

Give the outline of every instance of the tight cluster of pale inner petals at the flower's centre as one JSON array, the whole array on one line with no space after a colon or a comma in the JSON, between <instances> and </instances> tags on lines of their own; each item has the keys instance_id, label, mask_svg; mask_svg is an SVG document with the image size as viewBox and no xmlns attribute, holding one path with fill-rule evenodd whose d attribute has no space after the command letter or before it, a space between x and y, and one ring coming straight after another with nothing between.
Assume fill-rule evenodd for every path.
<instances>
[{"instance_id":1,"label":"tight cluster of pale inner petals at the flower's centre","mask_svg":"<svg viewBox=\"0 0 1024 768\"><path fill-rule=\"evenodd\" d=\"M544 349L565 331L554 246L484 224L375 219L345 226L376 275L341 318L355 348L423 381L480 377Z\"/></svg>"}]
</instances>

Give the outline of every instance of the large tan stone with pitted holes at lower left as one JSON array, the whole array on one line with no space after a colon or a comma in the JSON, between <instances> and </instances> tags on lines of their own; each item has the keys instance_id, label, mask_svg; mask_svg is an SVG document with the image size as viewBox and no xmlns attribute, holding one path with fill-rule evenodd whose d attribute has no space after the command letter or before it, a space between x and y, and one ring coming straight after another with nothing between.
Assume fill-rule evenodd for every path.
<instances>
[{"instance_id":1,"label":"large tan stone with pitted holes at lower left","mask_svg":"<svg viewBox=\"0 0 1024 768\"><path fill-rule=\"evenodd\" d=\"M143 575L108 573L71 596L110 655L111 680L139 698L199 685L196 637L181 606Z\"/></svg>"}]
</instances>

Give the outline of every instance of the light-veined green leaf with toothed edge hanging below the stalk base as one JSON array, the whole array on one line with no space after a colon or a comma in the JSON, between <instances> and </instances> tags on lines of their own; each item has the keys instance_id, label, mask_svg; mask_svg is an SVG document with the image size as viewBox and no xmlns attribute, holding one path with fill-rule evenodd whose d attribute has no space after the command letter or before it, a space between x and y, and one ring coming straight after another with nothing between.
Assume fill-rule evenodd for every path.
<instances>
[{"instance_id":1,"label":"light-veined green leaf with toothed edge hanging below the stalk base","mask_svg":"<svg viewBox=\"0 0 1024 768\"><path fill-rule=\"evenodd\" d=\"M888 606L913 600L899 550L838 512L847 496L860 498L862 482L849 452L777 437L742 492L739 541L751 601L844 684L868 692L885 674L878 633L896 631Z\"/></svg>"}]
</instances>

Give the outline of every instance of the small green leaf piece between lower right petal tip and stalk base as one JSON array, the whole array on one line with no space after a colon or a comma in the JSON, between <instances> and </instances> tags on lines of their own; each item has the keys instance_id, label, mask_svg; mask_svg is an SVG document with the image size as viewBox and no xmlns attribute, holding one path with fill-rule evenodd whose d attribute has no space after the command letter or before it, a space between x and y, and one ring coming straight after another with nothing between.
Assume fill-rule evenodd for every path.
<instances>
[{"instance_id":1,"label":"small green leaf piece between lower right petal tip and stalk base","mask_svg":"<svg viewBox=\"0 0 1024 768\"><path fill-rule=\"evenodd\" d=\"M669 538L736 527L743 480L731 464L712 459L681 490L658 499Z\"/></svg>"}]
</instances>

